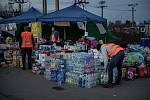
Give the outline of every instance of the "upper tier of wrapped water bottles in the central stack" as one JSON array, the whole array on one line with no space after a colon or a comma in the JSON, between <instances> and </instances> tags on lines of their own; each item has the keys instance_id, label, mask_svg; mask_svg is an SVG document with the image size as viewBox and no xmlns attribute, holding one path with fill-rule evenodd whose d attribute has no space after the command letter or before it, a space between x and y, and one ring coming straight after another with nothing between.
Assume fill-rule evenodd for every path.
<instances>
[{"instance_id":1,"label":"upper tier of wrapped water bottles in the central stack","mask_svg":"<svg viewBox=\"0 0 150 100\"><path fill-rule=\"evenodd\" d=\"M79 73L91 73L95 71L94 59L88 53L62 53L62 55L67 61L67 71Z\"/></svg>"}]
</instances>

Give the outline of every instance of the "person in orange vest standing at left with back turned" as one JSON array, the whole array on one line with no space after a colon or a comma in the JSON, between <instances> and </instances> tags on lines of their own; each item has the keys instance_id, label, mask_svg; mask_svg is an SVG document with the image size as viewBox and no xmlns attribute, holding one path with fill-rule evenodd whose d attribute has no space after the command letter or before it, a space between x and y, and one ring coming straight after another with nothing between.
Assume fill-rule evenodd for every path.
<instances>
[{"instance_id":1,"label":"person in orange vest standing at left with back turned","mask_svg":"<svg viewBox=\"0 0 150 100\"><path fill-rule=\"evenodd\" d=\"M26 66L26 55L28 56L28 69L32 69L32 49L35 43L33 39L33 34L30 32L30 28L25 26L24 32L21 33L21 53L22 53L22 69L25 70Z\"/></svg>"}]
</instances>

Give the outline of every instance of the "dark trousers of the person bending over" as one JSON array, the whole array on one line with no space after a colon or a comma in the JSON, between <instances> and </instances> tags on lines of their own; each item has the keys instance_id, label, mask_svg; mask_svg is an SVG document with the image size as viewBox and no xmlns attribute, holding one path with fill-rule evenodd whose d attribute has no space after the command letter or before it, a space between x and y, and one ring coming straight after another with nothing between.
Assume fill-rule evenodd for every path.
<instances>
[{"instance_id":1,"label":"dark trousers of the person bending over","mask_svg":"<svg viewBox=\"0 0 150 100\"><path fill-rule=\"evenodd\" d=\"M124 51L120 51L117 55L113 56L108 65L108 84L112 84L113 81L113 68L117 67L118 77L116 83L120 83L122 77L122 62L124 59Z\"/></svg>"}]
</instances>

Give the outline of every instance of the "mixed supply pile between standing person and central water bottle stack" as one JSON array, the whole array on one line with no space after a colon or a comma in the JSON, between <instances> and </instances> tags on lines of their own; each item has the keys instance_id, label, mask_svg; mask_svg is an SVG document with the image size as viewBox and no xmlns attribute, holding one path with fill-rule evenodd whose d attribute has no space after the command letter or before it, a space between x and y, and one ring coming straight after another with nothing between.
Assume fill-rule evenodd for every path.
<instances>
[{"instance_id":1,"label":"mixed supply pile between standing person and central water bottle stack","mask_svg":"<svg viewBox=\"0 0 150 100\"><path fill-rule=\"evenodd\" d=\"M34 53L36 63L32 69L33 73L44 75L47 80L65 82L65 60L59 54L44 50Z\"/></svg>"}]
</instances>

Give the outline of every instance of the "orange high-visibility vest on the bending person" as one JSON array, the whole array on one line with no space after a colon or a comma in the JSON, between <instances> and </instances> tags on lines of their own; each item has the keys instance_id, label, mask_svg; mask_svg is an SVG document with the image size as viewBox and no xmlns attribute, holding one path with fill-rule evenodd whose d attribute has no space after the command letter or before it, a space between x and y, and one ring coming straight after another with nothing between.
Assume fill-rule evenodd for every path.
<instances>
[{"instance_id":1,"label":"orange high-visibility vest on the bending person","mask_svg":"<svg viewBox=\"0 0 150 100\"><path fill-rule=\"evenodd\" d=\"M113 43L109 43L107 44L108 46L108 56L112 57L114 55L116 55L118 52L120 52L121 50L124 50L122 47L120 47L119 45L113 44Z\"/></svg>"}]
</instances>

